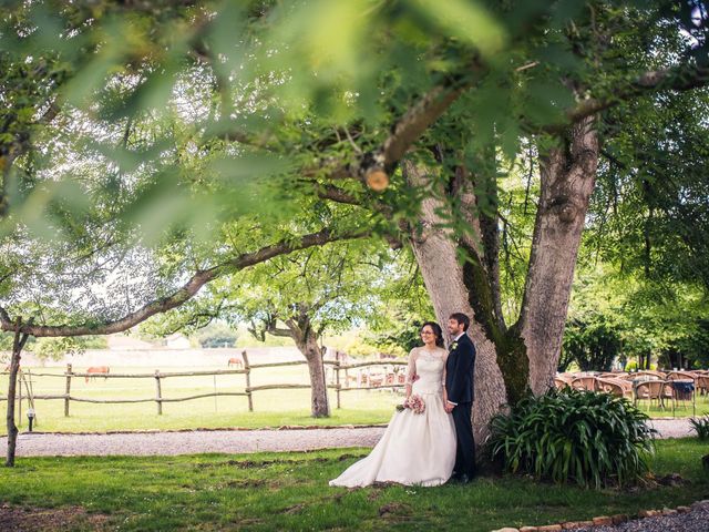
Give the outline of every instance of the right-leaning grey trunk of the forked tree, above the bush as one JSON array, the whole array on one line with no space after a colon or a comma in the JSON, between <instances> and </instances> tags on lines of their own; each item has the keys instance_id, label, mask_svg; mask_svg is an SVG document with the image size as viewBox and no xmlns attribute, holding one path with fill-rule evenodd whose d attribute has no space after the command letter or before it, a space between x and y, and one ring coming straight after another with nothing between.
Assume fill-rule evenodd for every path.
<instances>
[{"instance_id":1,"label":"right-leaning grey trunk of the forked tree, above the bush","mask_svg":"<svg viewBox=\"0 0 709 532\"><path fill-rule=\"evenodd\" d=\"M564 144L540 157L541 197L518 321L530 359L530 387L537 395L553 386L561 355L578 245L598 164L594 119L574 124Z\"/></svg>"}]
</instances>

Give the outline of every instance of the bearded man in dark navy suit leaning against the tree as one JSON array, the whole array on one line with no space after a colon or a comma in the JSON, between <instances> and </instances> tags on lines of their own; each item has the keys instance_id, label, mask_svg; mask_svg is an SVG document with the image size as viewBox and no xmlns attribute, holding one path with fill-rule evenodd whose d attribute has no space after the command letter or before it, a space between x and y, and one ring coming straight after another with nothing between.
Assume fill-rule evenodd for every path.
<instances>
[{"instance_id":1,"label":"bearded man in dark navy suit leaning against the tree","mask_svg":"<svg viewBox=\"0 0 709 532\"><path fill-rule=\"evenodd\" d=\"M471 421L475 346L465 334L469 326L470 318L461 313L452 314L448 320L452 341L445 365L445 411L453 415L458 439L453 478L462 483L470 482L475 474L475 440Z\"/></svg>"}]
</instances>

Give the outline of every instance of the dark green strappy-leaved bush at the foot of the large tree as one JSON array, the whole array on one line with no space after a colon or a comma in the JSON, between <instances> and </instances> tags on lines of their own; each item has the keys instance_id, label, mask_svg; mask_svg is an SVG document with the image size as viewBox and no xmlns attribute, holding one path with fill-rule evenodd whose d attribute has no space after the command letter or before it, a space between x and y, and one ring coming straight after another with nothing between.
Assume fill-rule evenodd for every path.
<instances>
[{"instance_id":1,"label":"dark green strappy-leaved bush at the foot of the large tree","mask_svg":"<svg viewBox=\"0 0 709 532\"><path fill-rule=\"evenodd\" d=\"M489 450L513 473L600 488L648 471L648 417L609 393L552 389L530 396L491 421Z\"/></svg>"}]
</instances>

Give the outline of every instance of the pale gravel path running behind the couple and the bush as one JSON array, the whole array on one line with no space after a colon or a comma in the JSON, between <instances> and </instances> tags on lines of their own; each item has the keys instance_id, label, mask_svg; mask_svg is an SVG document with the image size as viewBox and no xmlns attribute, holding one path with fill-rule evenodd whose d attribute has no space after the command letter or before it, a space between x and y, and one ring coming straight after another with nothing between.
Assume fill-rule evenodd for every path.
<instances>
[{"instance_id":1,"label":"pale gravel path running behind the couple and the bush","mask_svg":"<svg viewBox=\"0 0 709 532\"><path fill-rule=\"evenodd\" d=\"M653 426L660 438L682 438L691 433L687 419L658 419ZM18 457L192 454L201 452L245 453L259 451L304 451L312 449L373 447L384 427L339 427L288 430L194 430L122 432L105 434L61 434L23 432L18 437ZM0 448L7 438L0 438Z\"/></svg>"}]
</instances>

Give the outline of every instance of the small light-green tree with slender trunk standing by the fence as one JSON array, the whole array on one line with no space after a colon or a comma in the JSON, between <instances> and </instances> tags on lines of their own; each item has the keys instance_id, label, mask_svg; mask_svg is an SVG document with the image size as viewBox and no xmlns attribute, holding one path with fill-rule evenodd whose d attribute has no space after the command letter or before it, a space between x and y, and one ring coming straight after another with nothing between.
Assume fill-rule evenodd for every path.
<instances>
[{"instance_id":1,"label":"small light-green tree with slender trunk standing by the fence","mask_svg":"<svg viewBox=\"0 0 709 532\"><path fill-rule=\"evenodd\" d=\"M398 275L381 243L337 243L276 257L217 283L204 304L229 323L250 324L261 341L266 334L292 339L308 362L312 417L328 417L323 335L377 321L388 279ZM174 328L193 317L187 307L166 320Z\"/></svg>"}]
</instances>

